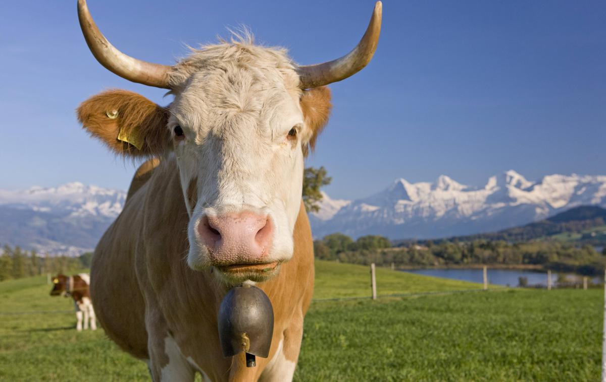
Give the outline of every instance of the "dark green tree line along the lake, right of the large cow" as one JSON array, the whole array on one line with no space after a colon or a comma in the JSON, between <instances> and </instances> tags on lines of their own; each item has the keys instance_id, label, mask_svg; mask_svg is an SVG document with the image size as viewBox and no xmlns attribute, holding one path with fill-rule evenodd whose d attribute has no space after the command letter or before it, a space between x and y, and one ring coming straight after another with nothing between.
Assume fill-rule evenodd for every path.
<instances>
[{"instance_id":1,"label":"dark green tree line along the lake, right of the large cow","mask_svg":"<svg viewBox=\"0 0 606 382\"><path fill-rule=\"evenodd\" d=\"M542 265L555 271L587 275L604 273L606 267L606 248L599 253L591 245L576 247L567 242L510 243L476 239L466 242L427 241L425 245L391 247L390 241L383 236L362 236L354 241L347 235L334 233L316 240L314 250L318 259L362 265Z\"/></svg>"}]
</instances>

